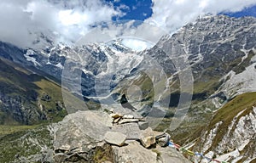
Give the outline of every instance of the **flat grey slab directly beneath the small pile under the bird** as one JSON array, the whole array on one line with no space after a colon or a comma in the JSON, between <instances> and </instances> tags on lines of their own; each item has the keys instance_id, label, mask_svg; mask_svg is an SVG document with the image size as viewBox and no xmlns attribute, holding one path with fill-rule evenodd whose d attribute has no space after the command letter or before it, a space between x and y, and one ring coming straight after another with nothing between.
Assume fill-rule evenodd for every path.
<instances>
[{"instance_id":1,"label":"flat grey slab directly beneath the small pile under the bird","mask_svg":"<svg viewBox=\"0 0 256 163\"><path fill-rule=\"evenodd\" d=\"M114 125L112 132L121 132L126 135L126 139L139 139L141 130L137 123L125 123L121 125Z\"/></svg>"}]
</instances>

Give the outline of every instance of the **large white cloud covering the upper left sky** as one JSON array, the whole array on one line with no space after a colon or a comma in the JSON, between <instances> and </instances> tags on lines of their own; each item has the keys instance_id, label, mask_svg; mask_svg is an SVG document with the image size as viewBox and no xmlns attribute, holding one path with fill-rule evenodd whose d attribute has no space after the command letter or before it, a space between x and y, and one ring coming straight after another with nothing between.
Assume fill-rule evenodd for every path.
<instances>
[{"instance_id":1,"label":"large white cloud covering the upper left sky","mask_svg":"<svg viewBox=\"0 0 256 163\"><path fill-rule=\"evenodd\" d=\"M21 48L34 46L41 33L55 41L75 41L91 25L120 14L101 0L2 0L0 40Z\"/></svg>"}]
</instances>

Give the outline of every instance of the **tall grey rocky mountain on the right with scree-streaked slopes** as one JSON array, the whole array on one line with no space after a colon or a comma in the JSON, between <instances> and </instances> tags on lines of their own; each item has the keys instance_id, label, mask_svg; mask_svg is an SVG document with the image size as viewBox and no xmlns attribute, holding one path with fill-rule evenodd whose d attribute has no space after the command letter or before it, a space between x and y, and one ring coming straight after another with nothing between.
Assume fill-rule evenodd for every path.
<instances>
[{"instance_id":1,"label":"tall grey rocky mountain on the right with scree-streaked slopes","mask_svg":"<svg viewBox=\"0 0 256 163\"><path fill-rule=\"evenodd\" d=\"M149 93L152 91L148 87L164 85L161 93L152 94L162 103L171 92L170 107L175 108L183 92L181 80L187 77L184 85L193 82L193 111L190 113L196 115L206 108L216 110L238 94L255 91L255 37L256 19L253 17L201 17L183 26L172 37L162 37L154 48L140 53L143 61L134 71L143 71L146 77L137 73L136 77L128 76L119 85L134 84ZM147 70L153 77L147 76ZM193 78L183 76L184 70ZM155 84L158 79L162 81ZM150 81L154 86L143 87L143 83Z\"/></svg>"}]
</instances>

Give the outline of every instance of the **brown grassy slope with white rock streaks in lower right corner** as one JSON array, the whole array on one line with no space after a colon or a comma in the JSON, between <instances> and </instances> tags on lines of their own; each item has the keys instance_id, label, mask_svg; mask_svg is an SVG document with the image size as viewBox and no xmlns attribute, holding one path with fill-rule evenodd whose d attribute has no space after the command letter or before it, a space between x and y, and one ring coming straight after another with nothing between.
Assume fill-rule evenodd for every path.
<instances>
[{"instance_id":1,"label":"brown grassy slope with white rock streaks in lower right corner","mask_svg":"<svg viewBox=\"0 0 256 163\"><path fill-rule=\"evenodd\" d=\"M250 162L256 159L256 93L245 93L218 110L195 149L217 160ZM202 160L205 161L205 160Z\"/></svg>"}]
</instances>

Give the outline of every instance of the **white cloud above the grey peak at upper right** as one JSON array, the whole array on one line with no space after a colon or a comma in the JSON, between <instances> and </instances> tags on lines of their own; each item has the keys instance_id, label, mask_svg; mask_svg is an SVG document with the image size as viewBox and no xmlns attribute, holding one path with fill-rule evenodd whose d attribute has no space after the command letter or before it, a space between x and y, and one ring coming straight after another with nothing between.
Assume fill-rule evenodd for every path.
<instances>
[{"instance_id":1,"label":"white cloud above the grey peak at upper right","mask_svg":"<svg viewBox=\"0 0 256 163\"><path fill-rule=\"evenodd\" d=\"M153 0L153 14L146 20L173 32L201 14L236 12L256 4L255 0Z\"/></svg>"}]
</instances>

